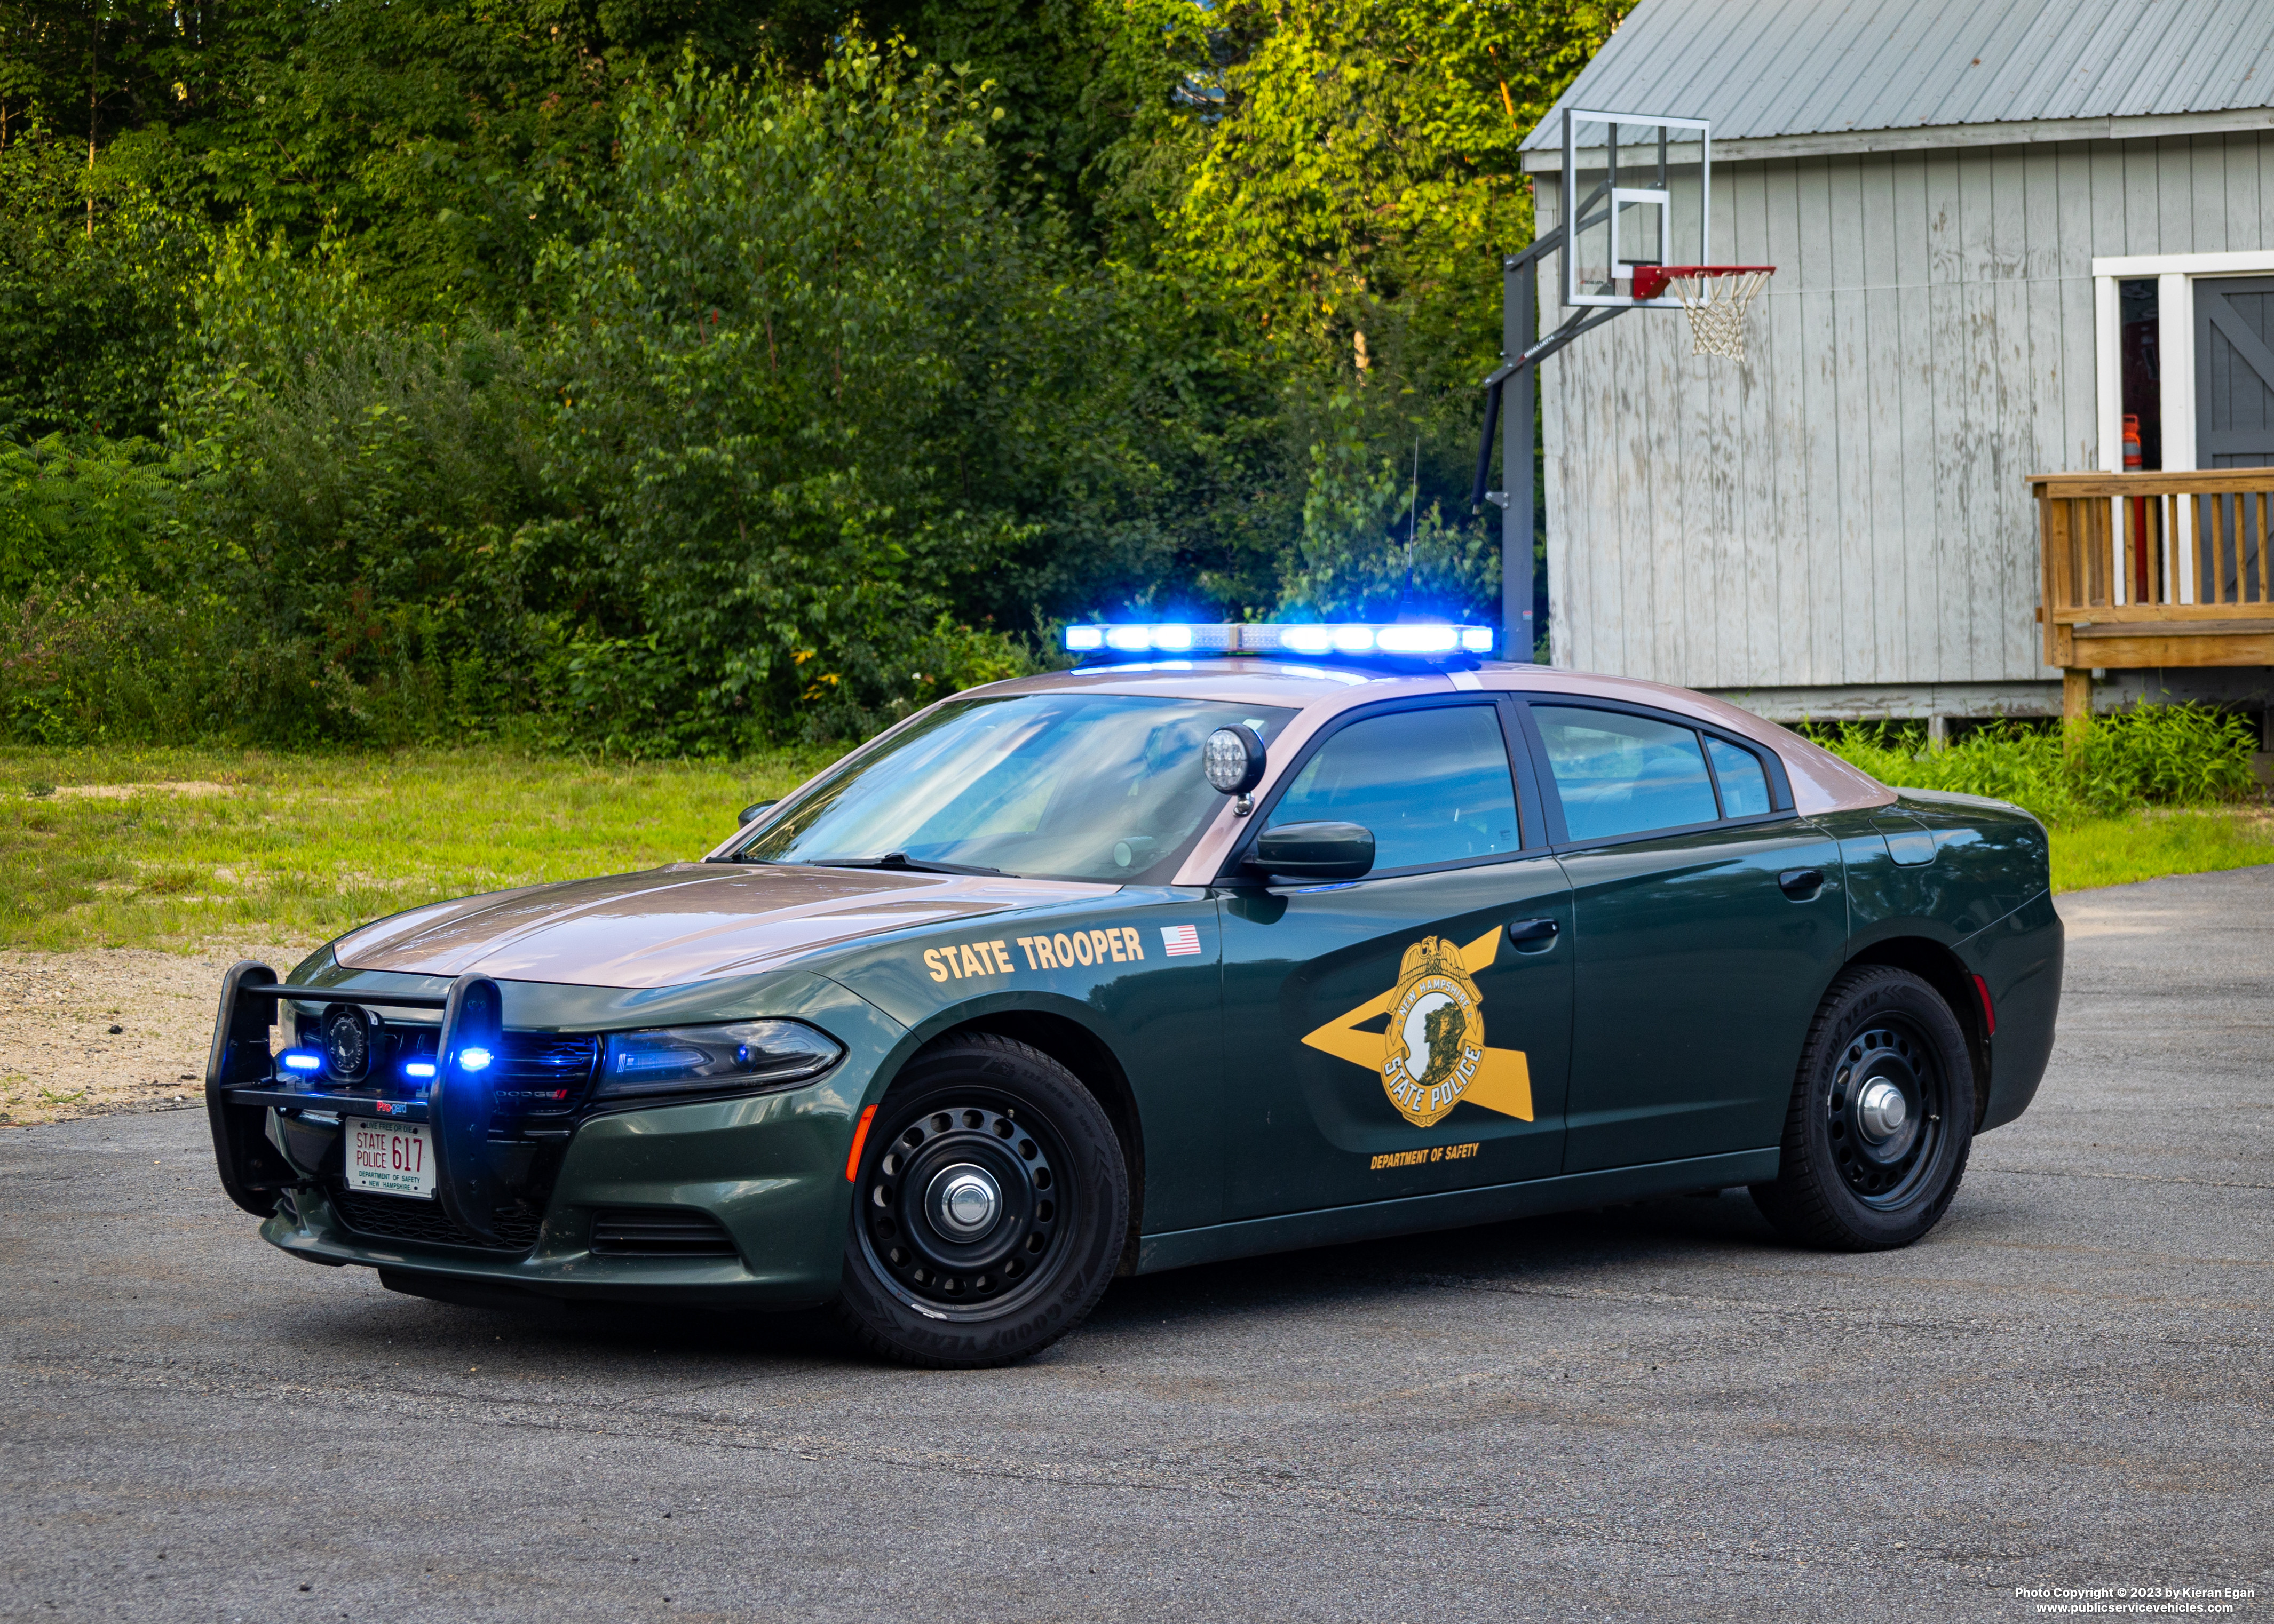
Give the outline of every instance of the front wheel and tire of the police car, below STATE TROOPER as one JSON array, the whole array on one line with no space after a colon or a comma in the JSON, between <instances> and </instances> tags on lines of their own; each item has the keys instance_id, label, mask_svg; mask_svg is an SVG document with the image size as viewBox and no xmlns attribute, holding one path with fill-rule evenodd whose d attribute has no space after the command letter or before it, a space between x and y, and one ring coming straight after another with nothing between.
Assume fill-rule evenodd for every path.
<instances>
[{"instance_id":1,"label":"front wheel and tire of the police car, below STATE TROOPER","mask_svg":"<svg viewBox=\"0 0 2274 1624\"><path fill-rule=\"evenodd\" d=\"M1030 1358L1105 1294L1128 1233L1121 1140L1039 1049L994 1033L910 1060L862 1146L839 1324L905 1365Z\"/></svg>"}]
</instances>

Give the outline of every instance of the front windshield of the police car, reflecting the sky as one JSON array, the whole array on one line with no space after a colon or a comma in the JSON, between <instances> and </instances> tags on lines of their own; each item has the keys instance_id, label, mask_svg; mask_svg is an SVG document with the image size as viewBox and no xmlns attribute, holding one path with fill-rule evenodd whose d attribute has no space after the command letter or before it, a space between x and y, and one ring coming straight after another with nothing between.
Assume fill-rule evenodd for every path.
<instances>
[{"instance_id":1,"label":"front windshield of the police car, reflecting the sky","mask_svg":"<svg viewBox=\"0 0 2274 1624\"><path fill-rule=\"evenodd\" d=\"M951 701L766 821L737 862L857 862L1048 880L1164 880L1223 796L1210 732L1294 716L1130 694Z\"/></svg>"}]
</instances>

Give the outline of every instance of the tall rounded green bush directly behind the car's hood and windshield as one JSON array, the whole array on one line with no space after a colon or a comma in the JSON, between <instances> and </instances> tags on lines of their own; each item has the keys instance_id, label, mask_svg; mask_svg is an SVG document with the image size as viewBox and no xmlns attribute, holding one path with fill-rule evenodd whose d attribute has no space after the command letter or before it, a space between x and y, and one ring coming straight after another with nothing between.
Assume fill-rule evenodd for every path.
<instances>
[{"instance_id":1,"label":"tall rounded green bush directly behind the car's hood and windshield","mask_svg":"<svg viewBox=\"0 0 2274 1624\"><path fill-rule=\"evenodd\" d=\"M978 86L912 57L637 96L550 262L543 535L591 726L828 737L1021 669L941 628L1037 537L1037 484L1087 450L1067 384L1128 337L1112 277L1003 202Z\"/></svg>"}]
</instances>

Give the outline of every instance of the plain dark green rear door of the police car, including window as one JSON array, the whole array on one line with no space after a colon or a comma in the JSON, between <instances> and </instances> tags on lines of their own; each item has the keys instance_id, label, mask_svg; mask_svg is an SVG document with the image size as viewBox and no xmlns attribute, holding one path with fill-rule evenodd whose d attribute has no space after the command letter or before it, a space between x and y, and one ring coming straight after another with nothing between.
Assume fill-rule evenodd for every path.
<instances>
[{"instance_id":1,"label":"plain dark green rear door of the police car, including window","mask_svg":"<svg viewBox=\"0 0 2274 1624\"><path fill-rule=\"evenodd\" d=\"M1576 917L1565 1171L1776 1144L1846 937L1837 842L1737 735L1544 696L1521 721Z\"/></svg>"}]
</instances>

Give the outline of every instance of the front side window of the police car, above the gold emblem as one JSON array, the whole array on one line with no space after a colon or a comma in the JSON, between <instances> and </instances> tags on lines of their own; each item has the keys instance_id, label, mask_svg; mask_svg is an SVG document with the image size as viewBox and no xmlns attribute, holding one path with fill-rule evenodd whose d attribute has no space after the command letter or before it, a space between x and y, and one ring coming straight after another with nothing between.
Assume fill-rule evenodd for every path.
<instances>
[{"instance_id":1,"label":"front side window of the police car, above the gold emblem","mask_svg":"<svg viewBox=\"0 0 2274 1624\"><path fill-rule=\"evenodd\" d=\"M1353 721L1310 757L1271 810L1283 823L1373 830L1373 869L1514 853L1517 792L1492 705L1401 710Z\"/></svg>"}]
</instances>

